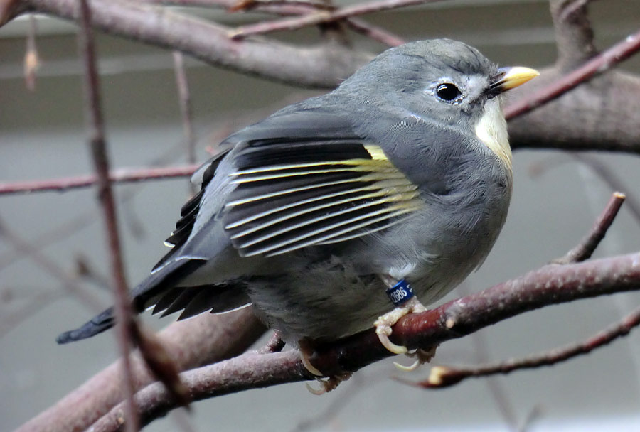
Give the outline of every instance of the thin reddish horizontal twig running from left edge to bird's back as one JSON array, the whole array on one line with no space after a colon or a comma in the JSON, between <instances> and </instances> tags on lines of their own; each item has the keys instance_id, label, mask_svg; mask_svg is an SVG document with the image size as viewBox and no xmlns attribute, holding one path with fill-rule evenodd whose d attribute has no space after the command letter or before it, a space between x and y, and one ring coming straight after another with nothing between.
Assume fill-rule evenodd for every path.
<instances>
[{"instance_id":1,"label":"thin reddish horizontal twig running from left edge to bird's back","mask_svg":"<svg viewBox=\"0 0 640 432\"><path fill-rule=\"evenodd\" d=\"M199 164L166 168L117 169L109 173L112 183L134 183L144 180L163 180L166 178L188 177L198 169ZM87 188L95 185L97 175L78 175L78 177L56 178L53 180L29 180L0 183L0 195L34 192L64 192L75 188Z\"/></svg>"}]
</instances>

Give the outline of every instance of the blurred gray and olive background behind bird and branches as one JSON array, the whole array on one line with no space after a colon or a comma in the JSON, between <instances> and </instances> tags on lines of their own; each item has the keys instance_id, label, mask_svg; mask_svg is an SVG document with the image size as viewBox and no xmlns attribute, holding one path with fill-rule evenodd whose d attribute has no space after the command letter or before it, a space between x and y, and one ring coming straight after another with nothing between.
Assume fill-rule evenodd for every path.
<instances>
[{"instance_id":1,"label":"blurred gray and olive background behind bird and branches","mask_svg":"<svg viewBox=\"0 0 640 432\"><path fill-rule=\"evenodd\" d=\"M342 4L343 2L338 2ZM196 11L228 25L252 14ZM594 2L590 17L598 48L636 31L640 2ZM502 65L541 68L555 60L547 1L446 1L366 17L407 40L448 37L479 48ZM63 178L92 173L82 114L82 68L75 26L38 17L36 90L26 89L23 57L28 19L0 28L0 181ZM315 41L309 28L278 37ZM358 36L372 52L385 49ZM171 53L110 36L97 36L107 141L114 168L177 165L185 144ZM318 92L238 75L186 59L198 161L207 146L244 124ZM622 64L640 73L640 57ZM639 138L640 139L640 138ZM640 160L626 154L588 153L640 198ZM484 266L447 298L476 292L535 269L572 248L591 227L612 188L588 166L562 151L516 151L515 190L506 227ZM535 173L535 175L534 175ZM188 198L186 178L118 185L119 217L129 284L148 274L166 252ZM107 255L95 190L0 196L0 431L9 431L55 404L117 358L112 333L58 346L55 336L94 311L68 293L43 261L69 274L88 266L83 288L112 303L102 279ZM11 238L11 241L9 241ZM31 245L36 254L16 240ZM640 221L624 206L597 256L634 252ZM475 364L521 357L582 340L638 306L640 296L619 294L527 313L440 347L434 364ZM172 322L148 315L155 328ZM408 364L402 358L393 359ZM424 379L425 366L410 380ZM508 431L532 419L530 431L640 430L640 339L628 338L551 368L475 379L426 391L396 382L390 361L371 365L336 392L314 396L304 384L252 390L193 406L196 431ZM176 430L176 414L146 430Z\"/></svg>"}]
</instances>

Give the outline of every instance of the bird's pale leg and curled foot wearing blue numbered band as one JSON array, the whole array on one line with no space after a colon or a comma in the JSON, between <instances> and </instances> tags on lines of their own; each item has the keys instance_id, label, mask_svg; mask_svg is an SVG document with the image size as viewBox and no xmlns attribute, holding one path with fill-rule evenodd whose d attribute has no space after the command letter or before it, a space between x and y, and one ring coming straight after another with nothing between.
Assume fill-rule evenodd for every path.
<instances>
[{"instance_id":1,"label":"bird's pale leg and curled foot wearing blue numbered band","mask_svg":"<svg viewBox=\"0 0 640 432\"><path fill-rule=\"evenodd\" d=\"M375 325L375 334L380 338L380 343L390 352L406 354L408 352L407 347L395 345L389 340L389 336L392 333L391 327L398 323L398 320L407 315L407 313L420 313L426 311L427 308L415 298L411 287L405 279L398 281L388 275L380 276L380 278L389 286L387 295L396 308L375 320L373 323Z\"/></svg>"}]
</instances>

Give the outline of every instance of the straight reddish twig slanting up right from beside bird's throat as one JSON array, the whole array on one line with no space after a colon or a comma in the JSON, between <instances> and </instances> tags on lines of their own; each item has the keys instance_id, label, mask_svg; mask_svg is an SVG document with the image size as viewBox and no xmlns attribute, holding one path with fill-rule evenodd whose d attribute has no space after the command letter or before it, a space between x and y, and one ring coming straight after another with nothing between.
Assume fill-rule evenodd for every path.
<instances>
[{"instance_id":1,"label":"straight reddish twig slanting up right from beside bird's throat","mask_svg":"<svg viewBox=\"0 0 640 432\"><path fill-rule=\"evenodd\" d=\"M640 31L633 33L622 41L613 45L608 50L596 55L591 60L584 63L572 72L562 75L550 85L543 87L531 95L519 99L517 102L508 105L504 110L504 117L511 120L520 117L553 99L564 95L569 90L574 89L583 82L587 82L596 75L600 75L611 69L614 65L631 57L640 50Z\"/></svg>"}]
</instances>

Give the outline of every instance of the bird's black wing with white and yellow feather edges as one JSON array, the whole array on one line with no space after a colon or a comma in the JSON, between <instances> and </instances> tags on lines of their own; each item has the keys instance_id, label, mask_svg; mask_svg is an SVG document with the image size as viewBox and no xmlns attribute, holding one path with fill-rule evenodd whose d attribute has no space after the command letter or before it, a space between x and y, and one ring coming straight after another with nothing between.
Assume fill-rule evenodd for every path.
<instances>
[{"instance_id":1,"label":"bird's black wing with white and yellow feather edges","mask_svg":"<svg viewBox=\"0 0 640 432\"><path fill-rule=\"evenodd\" d=\"M242 256L272 256L380 231L419 210L417 186L358 137L245 141L223 224Z\"/></svg>"}]
</instances>

